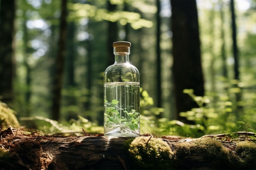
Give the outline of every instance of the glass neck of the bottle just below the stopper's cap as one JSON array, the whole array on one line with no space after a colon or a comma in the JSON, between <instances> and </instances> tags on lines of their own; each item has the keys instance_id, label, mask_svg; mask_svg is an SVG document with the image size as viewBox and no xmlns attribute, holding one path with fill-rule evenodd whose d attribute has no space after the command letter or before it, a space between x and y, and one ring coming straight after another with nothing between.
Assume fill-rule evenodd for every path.
<instances>
[{"instance_id":1,"label":"glass neck of the bottle just below the stopper's cap","mask_svg":"<svg viewBox=\"0 0 256 170\"><path fill-rule=\"evenodd\" d=\"M130 48L114 48L115 64L130 63Z\"/></svg>"}]
</instances>

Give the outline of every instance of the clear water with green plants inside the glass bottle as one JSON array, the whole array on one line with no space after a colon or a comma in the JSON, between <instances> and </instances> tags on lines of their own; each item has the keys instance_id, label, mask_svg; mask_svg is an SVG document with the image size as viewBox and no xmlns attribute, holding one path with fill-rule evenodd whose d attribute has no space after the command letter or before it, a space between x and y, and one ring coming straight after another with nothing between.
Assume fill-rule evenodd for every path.
<instances>
[{"instance_id":1,"label":"clear water with green plants inside the glass bottle","mask_svg":"<svg viewBox=\"0 0 256 170\"><path fill-rule=\"evenodd\" d=\"M105 136L139 136L139 82L104 83Z\"/></svg>"}]
</instances>

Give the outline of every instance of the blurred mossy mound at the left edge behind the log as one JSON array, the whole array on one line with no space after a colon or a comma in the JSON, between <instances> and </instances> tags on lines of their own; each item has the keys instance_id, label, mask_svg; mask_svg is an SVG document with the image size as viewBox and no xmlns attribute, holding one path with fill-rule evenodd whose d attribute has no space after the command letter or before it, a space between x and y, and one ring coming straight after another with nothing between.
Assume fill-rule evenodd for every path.
<instances>
[{"instance_id":1,"label":"blurred mossy mound at the left edge behind the log","mask_svg":"<svg viewBox=\"0 0 256 170\"><path fill-rule=\"evenodd\" d=\"M9 128L19 128L20 124L15 116L16 112L11 110L7 104L0 101L0 124L3 125L3 130Z\"/></svg>"}]
</instances>

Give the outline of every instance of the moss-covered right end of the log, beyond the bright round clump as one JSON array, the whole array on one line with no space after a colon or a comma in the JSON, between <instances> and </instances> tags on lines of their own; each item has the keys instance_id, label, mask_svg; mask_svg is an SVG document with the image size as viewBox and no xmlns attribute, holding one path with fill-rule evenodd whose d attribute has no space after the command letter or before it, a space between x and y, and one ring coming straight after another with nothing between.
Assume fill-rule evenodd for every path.
<instances>
[{"instance_id":1,"label":"moss-covered right end of the log, beyond the bright round clump","mask_svg":"<svg viewBox=\"0 0 256 170\"><path fill-rule=\"evenodd\" d=\"M256 169L255 158L256 144L249 141L222 144L214 139L203 138L175 145L175 169Z\"/></svg>"}]
</instances>

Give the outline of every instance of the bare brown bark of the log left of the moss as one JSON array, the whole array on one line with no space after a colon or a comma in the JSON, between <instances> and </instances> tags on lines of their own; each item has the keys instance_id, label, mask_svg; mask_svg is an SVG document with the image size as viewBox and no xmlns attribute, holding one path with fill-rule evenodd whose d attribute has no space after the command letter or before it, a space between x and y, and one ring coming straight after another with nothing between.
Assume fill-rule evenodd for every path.
<instances>
[{"instance_id":1,"label":"bare brown bark of the log left of the moss","mask_svg":"<svg viewBox=\"0 0 256 170\"><path fill-rule=\"evenodd\" d=\"M121 170L124 169L121 161L124 159L126 168L134 169L134 164L122 149L127 139L95 136L15 137L16 141L12 141L12 144L17 147L13 150L13 159L19 161L12 165L15 166L13 169ZM4 162L2 167L8 164Z\"/></svg>"}]
</instances>

